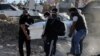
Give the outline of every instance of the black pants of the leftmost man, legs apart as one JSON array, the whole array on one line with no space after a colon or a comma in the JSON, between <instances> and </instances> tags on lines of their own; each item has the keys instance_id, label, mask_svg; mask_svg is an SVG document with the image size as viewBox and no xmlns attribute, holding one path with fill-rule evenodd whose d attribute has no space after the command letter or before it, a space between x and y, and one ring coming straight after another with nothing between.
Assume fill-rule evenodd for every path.
<instances>
[{"instance_id":1,"label":"black pants of the leftmost man, legs apart","mask_svg":"<svg viewBox=\"0 0 100 56\"><path fill-rule=\"evenodd\" d=\"M27 40L25 36L20 35L19 36L19 54L20 56L24 56L24 51L23 51L23 44L26 44L26 52L27 52L27 56L30 56L31 50L30 50L30 40Z\"/></svg>"}]
</instances>

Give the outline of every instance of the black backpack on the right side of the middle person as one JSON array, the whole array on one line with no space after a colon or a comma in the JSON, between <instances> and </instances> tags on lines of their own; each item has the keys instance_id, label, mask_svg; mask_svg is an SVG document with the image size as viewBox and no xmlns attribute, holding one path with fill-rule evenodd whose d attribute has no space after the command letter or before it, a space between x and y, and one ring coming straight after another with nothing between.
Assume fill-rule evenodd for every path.
<instances>
[{"instance_id":1,"label":"black backpack on the right side of the middle person","mask_svg":"<svg viewBox=\"0 0 100 56\"><path fill-rule=\"evenodd\" d=\"M54 31L55 31L55 33L56 33L58 36L64 36L64 35L65 35L65 25L64 25L64 23L63 23L62 21L60 21L59 19L60 19L60 18L57 17L57 18L53 21L52 25L54 25L54 26L53 26Z\"/></svg>"}]
</instances>

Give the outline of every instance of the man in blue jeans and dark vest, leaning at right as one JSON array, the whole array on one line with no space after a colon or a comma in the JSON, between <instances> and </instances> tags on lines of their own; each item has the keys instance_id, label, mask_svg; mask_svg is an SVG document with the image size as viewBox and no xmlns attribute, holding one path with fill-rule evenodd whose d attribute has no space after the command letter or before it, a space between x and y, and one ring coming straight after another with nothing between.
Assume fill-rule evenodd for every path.
<instances>
[{"instance_id":1,"label":"man in blue jeans and dark vest, leaning at right","mask_svg":"<svg viewBox=\"0 0 100 56\"><path fill-rule=\"evenodd\" d=\"M70 29L69 37L72 37L71 50L67 55L81 56L83 40L87 34L87 24L85 18L78 13L76 8L69 9L70 18L73 24Z\"/></svg>"}]
</instances>

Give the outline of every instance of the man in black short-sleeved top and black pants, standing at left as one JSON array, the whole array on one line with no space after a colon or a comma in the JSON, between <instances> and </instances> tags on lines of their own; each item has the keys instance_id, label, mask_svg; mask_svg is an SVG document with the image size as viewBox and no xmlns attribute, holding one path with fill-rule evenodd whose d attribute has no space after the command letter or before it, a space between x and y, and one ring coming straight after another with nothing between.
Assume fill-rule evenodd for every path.
<instances>
[{"instance_id":1,"label":"man in black short-sleeved top and black pants, standing at left","mask_svg":"<svg viewBox=\"0 0 100 56\"><path fill-rule=\"evenodd\" d=\"M23 11L23 14L19 19L19 54L20 56L24 56L23 44L26 44L27 56L30 56L30 36L29 36L29 24L31 24L30 15L27 10Z\"/></svg>"}]
</instances>

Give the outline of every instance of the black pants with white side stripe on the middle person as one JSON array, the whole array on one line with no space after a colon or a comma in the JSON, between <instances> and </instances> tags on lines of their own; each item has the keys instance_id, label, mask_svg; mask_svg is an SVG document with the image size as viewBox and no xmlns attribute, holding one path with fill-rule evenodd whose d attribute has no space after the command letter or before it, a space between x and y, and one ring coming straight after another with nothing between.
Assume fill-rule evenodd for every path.
<instances>
[{"instance_id":1,"label":"black pants with white side stripe on the middle person","mask_svg":"<svg viewBox=\"0 0 100 56\"><path fill-rule=\"evenodd\" d=\"M51 55L50 56L52 56L52 54L55 55L55 53L56 53L56 43L57 43L57 39L53 39L53 40L54 40L53 49L52 49L52 52L51 52ZM46 53L46 56L49 56L51 41L52 40L46 40L44 42L44 51Z\"/></svg>"}]
</instances>

